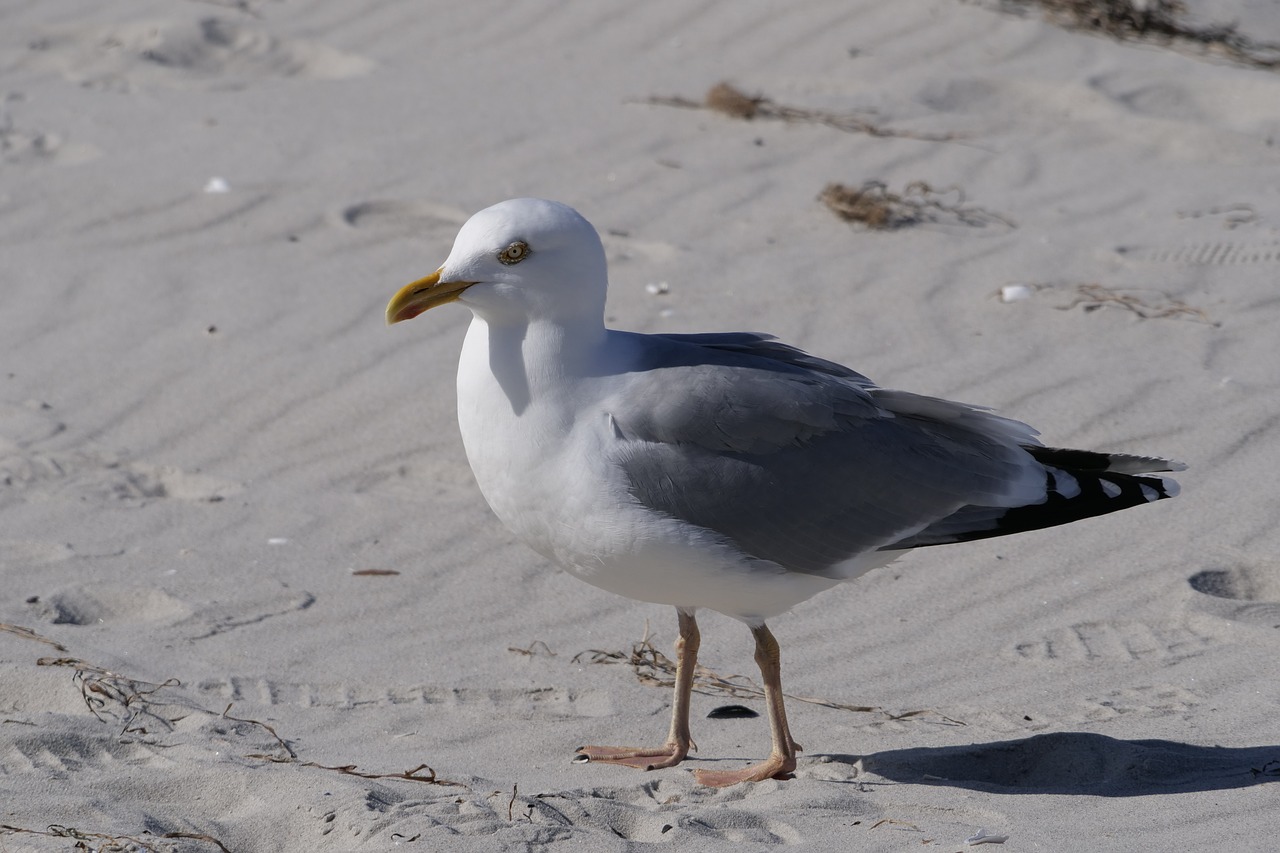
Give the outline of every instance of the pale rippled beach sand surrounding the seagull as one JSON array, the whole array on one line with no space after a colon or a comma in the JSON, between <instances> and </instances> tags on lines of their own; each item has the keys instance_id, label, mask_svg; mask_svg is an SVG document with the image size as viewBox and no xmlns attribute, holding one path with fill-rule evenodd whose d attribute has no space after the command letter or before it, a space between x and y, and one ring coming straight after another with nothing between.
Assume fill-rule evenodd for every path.
<instances>
[{"instance_id":1,"label":"pale rippled beach sand surrounding the seagull","mask_svg":"<svg viewBox=\"0 0 1280 853\"><path fill-rule=\"evenodd\" d=\"M1280 41L1267 3L1188 19ZM1274 68L995 1L0 22L0 849L1274 848ZM721 81L765 109L671 100ZM868 182L914 213L819 201ZM524 195L599 227L614 325L772 332L1184 460L1183 494L776 620L787 690L827 703L790 702L794 780L571 763L662 736L626 657L675 615L489 514L454 423L468 314L383 323ZM756 679L741 625L703 637ZM724 704L762 710L696 694L691 766L764 756Z\"/></svg>"}]
</instances>

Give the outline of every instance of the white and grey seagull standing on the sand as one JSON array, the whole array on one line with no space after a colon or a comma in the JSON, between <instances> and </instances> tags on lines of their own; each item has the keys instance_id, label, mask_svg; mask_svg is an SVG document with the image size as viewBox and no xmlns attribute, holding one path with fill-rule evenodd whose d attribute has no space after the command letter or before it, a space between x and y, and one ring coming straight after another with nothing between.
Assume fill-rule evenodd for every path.
<instances>
[{"instance_id":1,"label":"white and grey seagull standing on the sand","mask_svg":"<svg viewBox=\"0 0 1280 853\"><path fill-rule=\"evenodd\" d=\"M396 293L388 324L458 302L458 426L493 512L575 578L676 608L671 729L659 747L575 761L672 767L694 742L700 608L755 640L772 749L722 788L790 779L778 642L767 620L913 548L1066 524L1178 494L1152 456L1044 447L988 409L876 386L758 333L605 328L599 234L576 210L503 201L444 264Z\"/></svg>"}]
</instances>

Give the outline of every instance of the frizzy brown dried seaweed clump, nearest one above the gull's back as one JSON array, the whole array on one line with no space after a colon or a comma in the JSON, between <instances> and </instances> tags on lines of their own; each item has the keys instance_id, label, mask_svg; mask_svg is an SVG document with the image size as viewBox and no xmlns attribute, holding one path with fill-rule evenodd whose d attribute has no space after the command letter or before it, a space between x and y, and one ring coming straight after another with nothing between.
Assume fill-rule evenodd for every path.
<instances>
[{"instance_id":1,"label":"frizzy brown dried seaweed clump, nearest one above the gull's back","mask_svg":"<svg viewBox=\"0 0 1280 853\"><path fill-rule=\"evenodd\" d=\"M1014 227L1012 222L1000 214L965 206L964 191L959 187L940 191L923 181L906 184L901 195L891 192L881 181L868 181L860 187L828 183L818 200L845 222L859 223L873 231L922 224Z\"/></svg>"}]
</instances>

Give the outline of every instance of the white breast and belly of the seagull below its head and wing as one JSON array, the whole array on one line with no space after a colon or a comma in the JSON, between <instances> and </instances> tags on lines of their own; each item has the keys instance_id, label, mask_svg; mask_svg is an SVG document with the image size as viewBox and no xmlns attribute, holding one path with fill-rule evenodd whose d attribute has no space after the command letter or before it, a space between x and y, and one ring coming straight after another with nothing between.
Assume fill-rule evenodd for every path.
<instances>
[{"instance_id":1,"label":"white breast and belly of the seagull below its head and wing","mask_svg":"<svg viewBox=\"0 0 1280 853\"><path fill-rule=\"evenodd\" d=\"M599 382L557 373L540 383L536 342L508 345L472 321L458 365L458 424L481 493L531 548L609 592L751 622L838 583L746 558L716 534L636 503L609 461L611 443L622 439ZM518 366L509 364L517 352Z\"/></svg>"}]
</instances>

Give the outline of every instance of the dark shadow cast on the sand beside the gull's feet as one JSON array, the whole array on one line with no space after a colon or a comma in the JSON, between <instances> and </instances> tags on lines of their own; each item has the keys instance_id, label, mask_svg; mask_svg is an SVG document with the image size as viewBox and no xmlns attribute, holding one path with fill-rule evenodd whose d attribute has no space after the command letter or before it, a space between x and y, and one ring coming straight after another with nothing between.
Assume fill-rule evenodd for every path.
<instances>
[{"instance_id":1,"label":"dark shadow cast on the sand beside the gull's feet","mask_svg":"<svg viewBox=\"0 0 1280 853\"><path fill-rule=\"evenodd\" d=\"M832 758L859 761L851 756ZM863 771L893 781L1006 794L1143 797L1280 781L1280 745L1199 747L1175 740L1119 740L1083 731L890 749L860 761Z\"/></svg>"}]
</instances>

